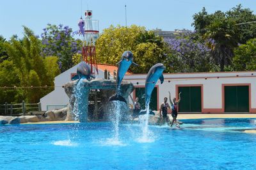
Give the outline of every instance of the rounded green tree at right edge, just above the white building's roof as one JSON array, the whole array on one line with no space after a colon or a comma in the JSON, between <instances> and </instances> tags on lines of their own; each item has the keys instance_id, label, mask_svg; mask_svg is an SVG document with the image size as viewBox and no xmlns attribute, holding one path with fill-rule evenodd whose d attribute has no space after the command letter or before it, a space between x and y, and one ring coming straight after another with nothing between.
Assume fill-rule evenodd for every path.
<instances>
[{"instance_id":1,"label":"rounded green tree at right edge, just above the white building's roof","mask_svg":"<svg viewBox=\"0 0 256 170\"><path fill-rule=\"evenodd\" d=\"M234 70L256 70L256 38L237 47L234 54Z\"/></svg>"}]
</instances>

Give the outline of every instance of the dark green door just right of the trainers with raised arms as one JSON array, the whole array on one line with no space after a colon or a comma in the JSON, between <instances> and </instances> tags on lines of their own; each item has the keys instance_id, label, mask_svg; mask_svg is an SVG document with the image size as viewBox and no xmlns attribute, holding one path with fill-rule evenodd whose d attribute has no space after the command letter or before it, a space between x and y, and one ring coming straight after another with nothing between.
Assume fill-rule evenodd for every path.
<instances>
[{"instance_id":1,"label":"dark green door just right of the trainers with raised arms","mask_svg":"<svg viewBox=\"0 0 256 170\"><path fill-rule=\"evenodd\" d=\"M179 103L179 112L201 112L202 111L202 98L201 87L179 87L181 92L181 100Z\"/></svg>"}]
</instances>

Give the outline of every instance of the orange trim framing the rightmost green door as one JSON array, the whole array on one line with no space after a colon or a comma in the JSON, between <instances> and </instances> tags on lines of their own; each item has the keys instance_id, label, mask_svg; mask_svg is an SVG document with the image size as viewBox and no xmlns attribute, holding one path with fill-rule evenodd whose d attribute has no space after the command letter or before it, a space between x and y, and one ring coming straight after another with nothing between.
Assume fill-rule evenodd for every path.
<instances>
[{"instance_id":1,"label":"orange trim framing the rightmost green door","mask_svg":"<svg viewBox=\"0 0 256 170\"><path fill-rule=\"evenodd\" d=\"M222 86L222 110L225 112L225 86L249 86L249 113L256 113L256 108L252 108L252 91L251 83L237 83L237 84L221 84Z\"/></svg>"}]
</instances>

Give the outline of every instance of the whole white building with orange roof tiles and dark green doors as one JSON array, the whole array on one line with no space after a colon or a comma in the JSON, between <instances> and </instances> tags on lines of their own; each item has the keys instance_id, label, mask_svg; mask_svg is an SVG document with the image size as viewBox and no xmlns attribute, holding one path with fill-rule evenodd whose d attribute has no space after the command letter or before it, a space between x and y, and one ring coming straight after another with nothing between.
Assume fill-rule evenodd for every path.
<instances>
[{"instance_id":1,"label":"whole white building with orange roof tiles and dark green doors","mask_svg":"<svg viewBox=\"0 0 256 170\"><path fill-rule=\"evenodd\" d=\"M113 75L116 66L98 65L99 78L104 78L107 69ZM76 73L76 66L61 73L54 79L54 91L40 99L42 110L62 108L68 104L68 97L62 88ZM132 97L139 97L143 105L145 79L147 74L127 73L124 80L134 84ZM199 113L225 113L249 112L256 113L256 72L207 72L207 73L164 73L164 82L158 81L152 92L150 108L159 110L164 97L178 98L181 93L182 100L179 112ZM130 104L132 102L130 101Z\"/></svg>"}]
</instances>

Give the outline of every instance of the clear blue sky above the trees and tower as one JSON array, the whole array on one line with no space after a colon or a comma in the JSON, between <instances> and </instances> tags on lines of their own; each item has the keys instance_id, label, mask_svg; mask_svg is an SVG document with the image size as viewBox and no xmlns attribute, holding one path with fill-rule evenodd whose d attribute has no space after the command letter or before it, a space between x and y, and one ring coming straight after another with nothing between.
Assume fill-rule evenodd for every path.
<instances>
[{"instance_id":1,"label":"clear blue sky above the trees and tower","mask_svg":"<svg viewBox=\"0 0 256 170\"><path fill-rule=\"evenodd\" d=\"M82 9L93 10L93 19L99 20L100 31L111 24L137 24L147 29L193 29L194 13L205 6L207 12L227 11L237 4L256 11L253 0L82 0ZM81 0L0 0L0 35L22 37L22 26L28 26L36 35L51 24L64 24L77 30L81 17ZM254 12L255 13L255 12Z\"/></svg>"}]
</instances>

